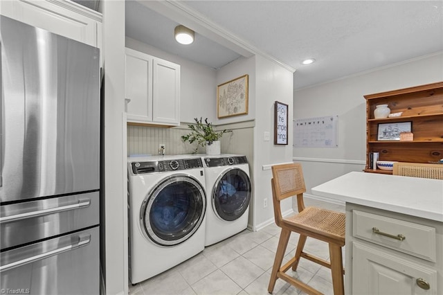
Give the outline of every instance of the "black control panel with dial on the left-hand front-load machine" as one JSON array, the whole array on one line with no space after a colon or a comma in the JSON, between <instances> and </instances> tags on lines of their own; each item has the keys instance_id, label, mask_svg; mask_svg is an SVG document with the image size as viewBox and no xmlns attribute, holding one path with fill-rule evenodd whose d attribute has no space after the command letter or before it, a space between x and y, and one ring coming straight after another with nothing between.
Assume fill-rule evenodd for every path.
<instances>
[{"instance_id":1,"label":"black control panel with dial on the left-hand front-load machine","mask_svg":"<svg viewBox=\"0 0 443 295\"><path fill-rule=\"evenodd\" d=\"M176 170L187 170L194 168L203 168L201 158L177 159L177 160L161 160L131 163L132 172L135 175L168 172Z\"/></svg>"}]
</instances>

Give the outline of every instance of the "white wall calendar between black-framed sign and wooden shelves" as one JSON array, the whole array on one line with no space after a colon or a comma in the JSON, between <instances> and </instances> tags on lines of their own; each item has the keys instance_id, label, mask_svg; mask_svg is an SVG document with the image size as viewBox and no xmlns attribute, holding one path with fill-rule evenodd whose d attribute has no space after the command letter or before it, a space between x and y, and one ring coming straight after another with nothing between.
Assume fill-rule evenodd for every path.
<instances>
[{"instance_id":1,"label":"white wall calendar between black-framed sign and wooden shelves","mask_svg":"<svg viewBox=\"0 0 443 295\"><path fill-rule=\"evenodd\" d=\"M294 147L338 147L338 116L293 121Z\"/></svg>"}]
</instances>

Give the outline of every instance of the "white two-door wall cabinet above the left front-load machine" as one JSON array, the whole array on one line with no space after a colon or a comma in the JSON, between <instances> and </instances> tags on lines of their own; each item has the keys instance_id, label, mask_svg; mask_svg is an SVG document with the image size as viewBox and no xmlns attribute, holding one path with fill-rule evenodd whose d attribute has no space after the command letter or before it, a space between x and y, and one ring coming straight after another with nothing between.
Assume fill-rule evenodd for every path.
<instances>
[{"instance_id":1,"label":"white two-door wall cabinet above the left front-load machine","mask_svg":"<svg viewBox=\"0 0 443 295\"><path fill-rule=\"evenodd\" d=\"M126 48L127 121L180 124L180 66Z\"/></svg>"}]
</instances>

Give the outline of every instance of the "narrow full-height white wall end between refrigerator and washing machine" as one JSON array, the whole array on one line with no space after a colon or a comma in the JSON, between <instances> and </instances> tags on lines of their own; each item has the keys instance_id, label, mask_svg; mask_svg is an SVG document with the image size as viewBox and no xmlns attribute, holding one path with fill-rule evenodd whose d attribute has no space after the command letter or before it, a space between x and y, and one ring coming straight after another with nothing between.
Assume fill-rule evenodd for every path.
<instances>
[{"instance_id":1,"label":"narrow full-height white wall end between refrigerator and washing machine","mask_svg":"<svg viewBox=\"0 0 443 295\"><path fill-rule=\"evenodd\" d=\"M107 294L127 294L125 136L125 2L103 1L105 58L105 283ZM102 89L103 90L103 89ZM103 201L103 199L102 199Z\"/></svg>"}]
</instances>

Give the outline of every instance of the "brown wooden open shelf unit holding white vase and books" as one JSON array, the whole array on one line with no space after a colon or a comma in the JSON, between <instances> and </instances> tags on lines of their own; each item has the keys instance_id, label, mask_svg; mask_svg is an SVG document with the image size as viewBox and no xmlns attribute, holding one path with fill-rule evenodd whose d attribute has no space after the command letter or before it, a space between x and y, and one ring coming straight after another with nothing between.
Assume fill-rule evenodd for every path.
<instances>
[{"instance_id":1,"label":"brown wooden open shelf unit holding white vase and books","mask_svg":"<svg viewBox=\"0 0 443 295\"><path fill-rule=\"evenodd\" d=\"M365 95L366 167L370 152L379 152L379 160L428 163L443 158L443 82ZM399 117L374 118L377 105L388 105ZM410 121L413 141L377 141L379 124ZM390 175L392 171L365 169L365 172Z\"/></svg>"}]
</instances>

